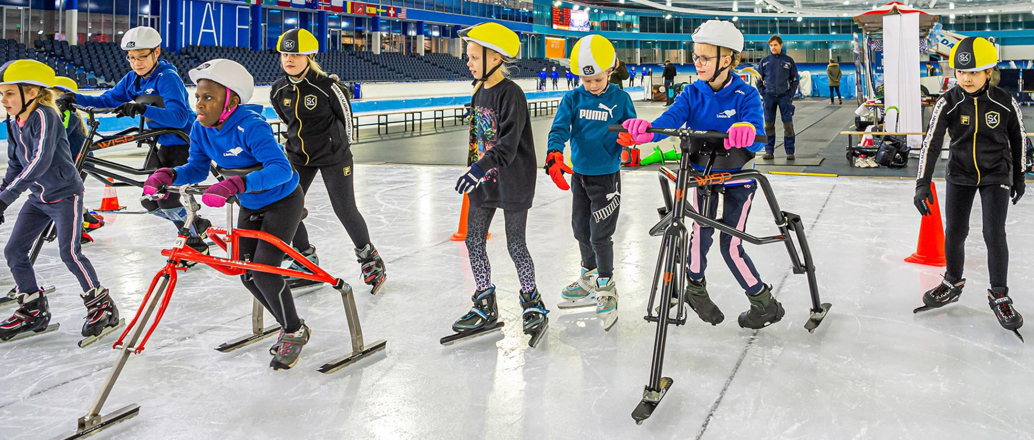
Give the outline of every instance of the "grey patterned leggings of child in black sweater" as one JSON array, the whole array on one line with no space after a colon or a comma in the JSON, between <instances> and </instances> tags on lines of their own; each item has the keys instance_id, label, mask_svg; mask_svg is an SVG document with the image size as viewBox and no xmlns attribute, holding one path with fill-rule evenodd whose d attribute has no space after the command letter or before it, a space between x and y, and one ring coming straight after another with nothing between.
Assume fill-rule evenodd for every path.
<instances>
[{"instance_id":1,"label":"grey patterned leggings of child in black sweater","mask_svg":"<svg viewBox=\"0 0 1034 440\"><path fill-rule=\"evenodd\" d=\"M474 279L479 291L492 286L492 268L488 262L488 253L485 251L485 237L488 234L488 226L492 224L494 215L495 208L472 206L467 212L466 252L470 258L470 270L474 271ZM524 241L527 211L504 210L503 216L507 227L507 249L510 250L510 258L517 266L520 289L523 292L533 292L536 289L535 263L531 262L531 254L527 252L527 244Z\"/></svg>"}]
</instances>

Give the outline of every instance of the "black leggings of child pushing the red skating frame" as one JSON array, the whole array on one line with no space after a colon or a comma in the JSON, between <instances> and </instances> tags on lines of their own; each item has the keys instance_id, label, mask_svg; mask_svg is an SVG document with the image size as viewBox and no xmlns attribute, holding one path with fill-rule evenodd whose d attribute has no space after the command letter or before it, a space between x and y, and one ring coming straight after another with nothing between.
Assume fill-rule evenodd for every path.
<instances>
[{"instance_id":1,"label":"black leggings of child pushing the red skating frame","mask_svg":"<svg viewBox=\"0 0 1034 440\"><path fill-rule=\"evenodd\" d=\"M302 220L304 207L305 194L302 193L302 188L298 187L286 197L261 209L249 210L241 207L241 212L237 216L237 227L261 230L286 243L295 235L298 222ZM255 214L263 216L251 220L251 216ZM283 261L283 251L270 243L255 239L241 239L238 246L238 255L241 258L247 256L253 262L275 266L279 266ZM276 322L285 332L296 332L302 326L298 312L295 311L295 298L291 295L291 287L283 277L266 272L248 272L241 277L241 281L266 310L273 314Z\"/></svg>"}]
</instances>

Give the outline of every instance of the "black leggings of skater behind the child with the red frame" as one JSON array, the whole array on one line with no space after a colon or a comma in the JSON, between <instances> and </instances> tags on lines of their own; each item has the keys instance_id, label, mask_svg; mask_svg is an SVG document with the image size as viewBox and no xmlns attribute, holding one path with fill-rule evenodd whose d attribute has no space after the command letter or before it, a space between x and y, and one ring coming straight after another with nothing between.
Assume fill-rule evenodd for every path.
<instances>
[{"instance_id":1,"label":"black leggings of skater behind the child with the red frame","mask_svg":"<svg viewBox=\"0 0 1034 440\"><path fill-rule=\"evenodd\" d=\"M348 160L324 166L305 166L295 164L298 170L302 190L309 192L312 180L316 177L316 171L324 178L324 185L330 196L330 206L334 208L334 214L348 232L352 243L356 249L362 249L370 243L370 231L366 228L366 220L359 213L356 207L356 186L353 183L352 158ZM299 223L298 231L295 232L295 240L292 242L295 249L306 250L309 248L309 231L304 223Z\"/></svg>"}]
</instances>

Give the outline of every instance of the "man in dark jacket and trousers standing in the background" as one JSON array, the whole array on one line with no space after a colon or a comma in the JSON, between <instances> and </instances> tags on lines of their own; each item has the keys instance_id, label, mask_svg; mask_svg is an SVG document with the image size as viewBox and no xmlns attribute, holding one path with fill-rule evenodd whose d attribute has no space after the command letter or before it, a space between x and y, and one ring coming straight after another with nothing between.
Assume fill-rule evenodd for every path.
<instances>
[{"instance_id":1,"label":"man in dark jacket and trousers standing in the background","mask_svg":"<svg viewBox=\"0 0 1034 440\"><path fill-rule=\"evenodd\" d=\"M793 131L793 94L797 91L800 75L797 74L797 64L793 58L783 53L783 38L772 35L768 38L767 57L758 63L758 90L765 107L765 133L768 143L765 145L763 159L776 156L776 108L779 107L780 119L783 121L783 147L786 149L786 160L794 159Z\"/></svg>"}]
</instances>

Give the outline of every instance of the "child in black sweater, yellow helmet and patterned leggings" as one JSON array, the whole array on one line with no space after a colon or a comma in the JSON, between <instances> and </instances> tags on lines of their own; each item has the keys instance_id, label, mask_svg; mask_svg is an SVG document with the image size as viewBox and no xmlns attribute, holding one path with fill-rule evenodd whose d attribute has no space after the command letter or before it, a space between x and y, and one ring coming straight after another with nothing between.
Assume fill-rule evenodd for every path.
<instances>
[{"instance_id":1,"label":"child in black sweater, yellow helmet and patterned leggings","mask_svg":"<svg viewBox=\"0 0 1034 440\"><path fill-rule=\"evenodd\" d=\"M524 333L535 347L548 325L545 305L535 282L535 264L527 251L524 229L535 196L535 138L524 91L506 77L504 63L515 60L520 38L497 23L463 29L466 65L475 77L470 111L469 167L457 180L456 191L470 196L466 249L477 284L474 307L454 324L456 335L443 343L481 335L503 326L495 305L485 237L497 209L504 211L510 256L517 265Z\"/></svg>"}]
</instances>

